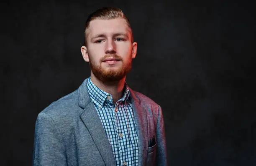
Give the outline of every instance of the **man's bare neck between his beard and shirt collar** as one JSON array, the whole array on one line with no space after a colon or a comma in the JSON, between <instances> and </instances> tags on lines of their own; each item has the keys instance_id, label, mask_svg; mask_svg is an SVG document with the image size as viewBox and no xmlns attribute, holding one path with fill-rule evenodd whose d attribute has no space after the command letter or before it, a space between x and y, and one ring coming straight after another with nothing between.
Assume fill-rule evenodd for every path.
<instances>
[{"instance_id":1,"label":"man's bare neck between his beard and shirt collar","mask_svg":"<svg viewBox=\"0 0 256 166\"><path fill-rule=\"evenodd\" d=\"M118 81L102 82L91 73L91 80L95 86L112 95L113 103L116 103L123 96L125 77Z\"/></svg>"}]
</instances>

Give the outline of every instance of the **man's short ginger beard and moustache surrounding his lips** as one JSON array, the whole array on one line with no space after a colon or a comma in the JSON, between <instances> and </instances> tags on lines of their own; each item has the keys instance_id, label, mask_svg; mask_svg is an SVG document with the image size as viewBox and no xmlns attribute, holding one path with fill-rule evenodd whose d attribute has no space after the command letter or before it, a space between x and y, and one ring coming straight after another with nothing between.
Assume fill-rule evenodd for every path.
<instances>
[{"instance_id":1,"label":"man's short ginger beard and moustache surrounding his lips","mask_svg":"<svg viewBox=\"0 0 256 166\"><path fill-rule=\"evenodd\" d=\"M102 57L100 59L100 65L97 65L97 63L95 63L92 60L92 58L90 58L90 55L89 55L89 60L90 60L89 65L92 70L92 73L95 75L95 77L98 80L102 81L103 83L119 81L119 80L123 79L131 71L132 60L129 60L128 63L123 64L121 67L119 67L117 69L102 68L101 63L103 62L103 60L106 58L110 58L110 57L114 57L114 58L118 59L120 62L123 62L123 59L116 54L105 55L104 57Z\"/></svg>"}]
</instances>

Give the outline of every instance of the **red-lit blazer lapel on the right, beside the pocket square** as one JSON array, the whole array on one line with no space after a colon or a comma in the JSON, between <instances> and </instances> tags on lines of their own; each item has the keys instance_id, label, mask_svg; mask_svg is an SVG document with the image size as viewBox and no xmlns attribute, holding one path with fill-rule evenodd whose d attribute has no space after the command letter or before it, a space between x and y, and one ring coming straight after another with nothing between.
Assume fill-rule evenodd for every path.
<instances>
[{"instance_id":1,"label":"red-lit blazer lapel on the right, beside the pocket square","mask_svg":"<svg viewBox=\"0 0 256 166\"><path fill-rule=\"evenodd\" d=\"M146 109L141 106L140 99L131 92L131 103L133 106L133 114L136 121L137 133L138 133L138 165L144 166L147 161L148 153L148 123Z\"/></svg>"}]
</instances>

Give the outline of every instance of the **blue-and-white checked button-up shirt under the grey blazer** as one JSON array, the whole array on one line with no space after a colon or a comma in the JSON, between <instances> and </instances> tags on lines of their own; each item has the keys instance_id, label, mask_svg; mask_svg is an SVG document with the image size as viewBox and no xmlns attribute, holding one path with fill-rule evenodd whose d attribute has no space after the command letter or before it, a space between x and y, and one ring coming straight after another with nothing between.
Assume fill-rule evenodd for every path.
<instances>
[{"instance_id":1,"label":"blue-and-white checked button-up shirt under the grey blazer","mask_svg":"<svg viewBox=\"0 0 256 166\"><path fill-rule=\"evenodd\" d=\"M117 165L138 166L138 135L127 84L123 97L116 104L109 93L92 83L91 78L87 80L87 89L108 136Z\"/></svg>"}]
</instances>

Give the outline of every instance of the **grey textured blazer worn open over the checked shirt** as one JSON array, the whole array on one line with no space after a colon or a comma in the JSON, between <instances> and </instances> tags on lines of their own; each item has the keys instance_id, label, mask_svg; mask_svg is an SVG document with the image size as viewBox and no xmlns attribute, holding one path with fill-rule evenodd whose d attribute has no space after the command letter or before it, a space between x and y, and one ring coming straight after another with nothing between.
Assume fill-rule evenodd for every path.
<instances>
[{"instance_id":1,"label":"grey textured blazer worn open over the checked shirt","mask_svg":"<svg viewBox=\"0 0 256 166\"><path fill-rule=\"evenodd\" d=\"M33 165L116 166L112 148L87 91L86 80L74 92L51 103L36 119ZM130 90L138 133L139 166L166 166L161 107ZM156 143L149 146L155 137Z\"/></svg>"}]
</instances>

